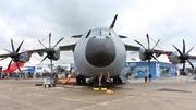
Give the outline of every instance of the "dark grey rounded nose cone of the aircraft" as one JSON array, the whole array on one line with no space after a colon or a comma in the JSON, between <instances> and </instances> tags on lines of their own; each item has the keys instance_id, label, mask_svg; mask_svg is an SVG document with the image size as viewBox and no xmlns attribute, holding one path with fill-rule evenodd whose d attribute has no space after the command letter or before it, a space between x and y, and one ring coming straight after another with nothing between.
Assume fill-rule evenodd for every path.
<instances>
[{"instance_id":1,"label":"dark grey rounded nose cone of the aircraft","mask_svg":"<svg viewBox=\"0 0 196 110\"><path fill-rule=\"evenodd\" d=\"M111 38L90 38L86 46L85 56L94 66L107 66L115 58L115 47Z\"/></svg>"}]
</instances>

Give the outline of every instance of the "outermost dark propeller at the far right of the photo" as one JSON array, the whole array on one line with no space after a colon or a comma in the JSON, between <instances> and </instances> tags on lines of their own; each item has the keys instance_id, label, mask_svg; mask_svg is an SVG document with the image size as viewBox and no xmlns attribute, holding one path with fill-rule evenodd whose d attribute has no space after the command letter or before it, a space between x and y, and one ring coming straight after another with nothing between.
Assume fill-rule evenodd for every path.
<instances>
[{"instance_id":1,"label":"outermost dark propeller at the far right of the photo","mask_svg":"<svg viewBox=\"0 0 196 110\"><path fill-rule=\"evenodd\" d=\"M193 50L194 47L192 47L187 52L185 52L185 41L184 41L184 39L183 39L183 51L180 51L174 45L172 45L172 46L180 53L180 56L177 58L180 60L180 63L183 63L183 72L184 72L184 69L185 69L186 61L189 63L189 65L194 70L194 65L188 60L189 59L189 54L188 53Z\"/></svg>"}]
</instances>

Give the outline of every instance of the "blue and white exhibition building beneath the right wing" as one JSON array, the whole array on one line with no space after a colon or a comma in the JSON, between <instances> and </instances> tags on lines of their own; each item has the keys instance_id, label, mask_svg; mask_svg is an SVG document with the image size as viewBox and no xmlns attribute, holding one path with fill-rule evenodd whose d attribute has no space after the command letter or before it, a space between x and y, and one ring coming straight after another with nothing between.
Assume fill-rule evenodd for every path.
<instances>
[{"instance_id":1,"label":"blue and white exhibition building beneath the right wing","mask_svg":"<svg viewBox=\"0 0 196 110\"><path fill-rule=\"evenodd\" d=\"M164 76L175 76L177 74L179 68L167 62L150 61L150 73L152 78L159 78ZM124 68L124 73L130 73L131 76L137 74L138 78L144 78L148 72L148 62L126 62Z\"/></svg>"}]
</instances>

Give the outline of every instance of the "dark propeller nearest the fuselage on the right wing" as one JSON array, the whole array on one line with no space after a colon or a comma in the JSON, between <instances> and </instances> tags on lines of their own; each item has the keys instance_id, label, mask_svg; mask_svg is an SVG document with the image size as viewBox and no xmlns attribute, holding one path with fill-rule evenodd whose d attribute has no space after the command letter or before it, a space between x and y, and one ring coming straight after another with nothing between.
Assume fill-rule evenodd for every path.
<instances>
[{"instance_id":1,"label":"dark propeller nearest the fuselage on the right wing","mask_svg":"<svg viewBox=\"0 0 196 110\"><path fill-rule=\"evenodd\" d=\"M147 41L148 41L148 47L147 48L144 47L143 44L140 44L139 41L137 41L137 40L135 40L135 41L145 49L144 56L145 56L145 59L148 60L148 66L150 68L151 58L154 58L154 59L156 59L158 61L158 59L154 56L154 48L159 44L160 39L155 44L155 46L152 48L150 48L149 35L146 34L146 37L147 37Z\"/></svg>"}]
</instances>

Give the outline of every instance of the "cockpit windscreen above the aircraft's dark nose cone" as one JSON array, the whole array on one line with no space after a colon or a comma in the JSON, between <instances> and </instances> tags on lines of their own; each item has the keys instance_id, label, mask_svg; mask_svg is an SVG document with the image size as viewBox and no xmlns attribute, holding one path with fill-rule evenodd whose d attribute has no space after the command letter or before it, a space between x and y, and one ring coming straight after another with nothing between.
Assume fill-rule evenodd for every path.
<instances>
[{"instance_id":1,"label":"cockpit windscreen above the aircraft's dark nose cone","mask_svg":"<svg viewBox=\"0 0 196 110\"><path fill-rule=\"evenodd\" d=\"M110 30L109 29L93 29L89 35L93 35L93 36L109 36Z\"/></svg>"}]
</instances>

